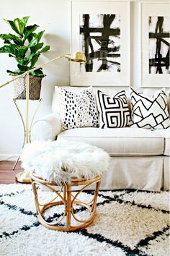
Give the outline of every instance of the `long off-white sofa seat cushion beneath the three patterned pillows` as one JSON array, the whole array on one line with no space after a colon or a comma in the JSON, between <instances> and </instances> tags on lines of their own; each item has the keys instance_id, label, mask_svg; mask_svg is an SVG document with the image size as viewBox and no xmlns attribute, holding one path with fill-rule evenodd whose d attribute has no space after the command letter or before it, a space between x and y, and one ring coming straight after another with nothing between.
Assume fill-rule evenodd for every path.
<instances>
[{"instance_id":1,"label":"long off-white sofa seat cushion beneath the three patterned pillows","mask_svg":"<svg viewBox=\"0 0 170 256\"><path fill-rule=\"evenodd\" d=\"M164 137L142 128L76 128L61 132L58 140L79 140L103 148L109 155L162 155Z\"/></svg>"}]
</instances>

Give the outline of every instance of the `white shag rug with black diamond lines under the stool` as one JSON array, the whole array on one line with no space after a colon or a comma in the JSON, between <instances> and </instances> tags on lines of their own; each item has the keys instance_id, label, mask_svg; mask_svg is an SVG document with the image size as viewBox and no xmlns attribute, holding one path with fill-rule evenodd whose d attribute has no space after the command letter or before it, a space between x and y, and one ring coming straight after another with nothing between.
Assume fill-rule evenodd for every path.
<instances>
[{"instance_id":1,"label":"white shag rug with black diamond lines under the stool","mask_svg":"<svg viewBox=\"0 0 170 256\"><path fill-rule=\"evenodd\" d=\"M53 193L40 192L46 199ZM91 193L83 192L81 199ZM48 210L45 218L54 221L61 208ZM86 216L81 206L76 212ZM30 185L0 185L0 255L168 256L169 192L100 191L94 223L68 233L37 222Z\"/></svg>"}]
</instances>

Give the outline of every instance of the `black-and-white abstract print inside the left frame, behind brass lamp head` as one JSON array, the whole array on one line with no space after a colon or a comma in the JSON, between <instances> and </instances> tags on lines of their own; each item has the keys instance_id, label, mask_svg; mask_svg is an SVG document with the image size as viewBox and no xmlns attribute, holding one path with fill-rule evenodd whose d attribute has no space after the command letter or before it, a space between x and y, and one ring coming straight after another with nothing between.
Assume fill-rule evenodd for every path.
<instances>
[{"instance_id":1,"label":"black-and-white abstract print inside the left frame, behind brass lamp head","mask_svg":"<svg viewBox=\"0 0 170 256\"><path fill-rule=\"evenodd\" d=\"M80 14L80 48L85 72L120 72L120 14Z\"/></svg>"}]
</instances>

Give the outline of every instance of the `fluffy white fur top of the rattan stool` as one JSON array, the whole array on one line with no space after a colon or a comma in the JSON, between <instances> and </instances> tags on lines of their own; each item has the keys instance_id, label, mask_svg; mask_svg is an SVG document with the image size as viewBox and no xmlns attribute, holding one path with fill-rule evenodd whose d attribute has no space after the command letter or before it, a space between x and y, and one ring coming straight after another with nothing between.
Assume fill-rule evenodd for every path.
<instances>
[{"instance_id":1,"label":"fluffy white fur top of the rattan stool","mask_svg":"<svg viewBox=\"0 0 170 256\"><path fill-rule=\"evenodd\" d=\"M109 155L101 148L68 140L27 144L21 159L25 171L35 171L37 176L58 183L82 176L92 179L109 166Z\"/></svg>"}]
</instances>

